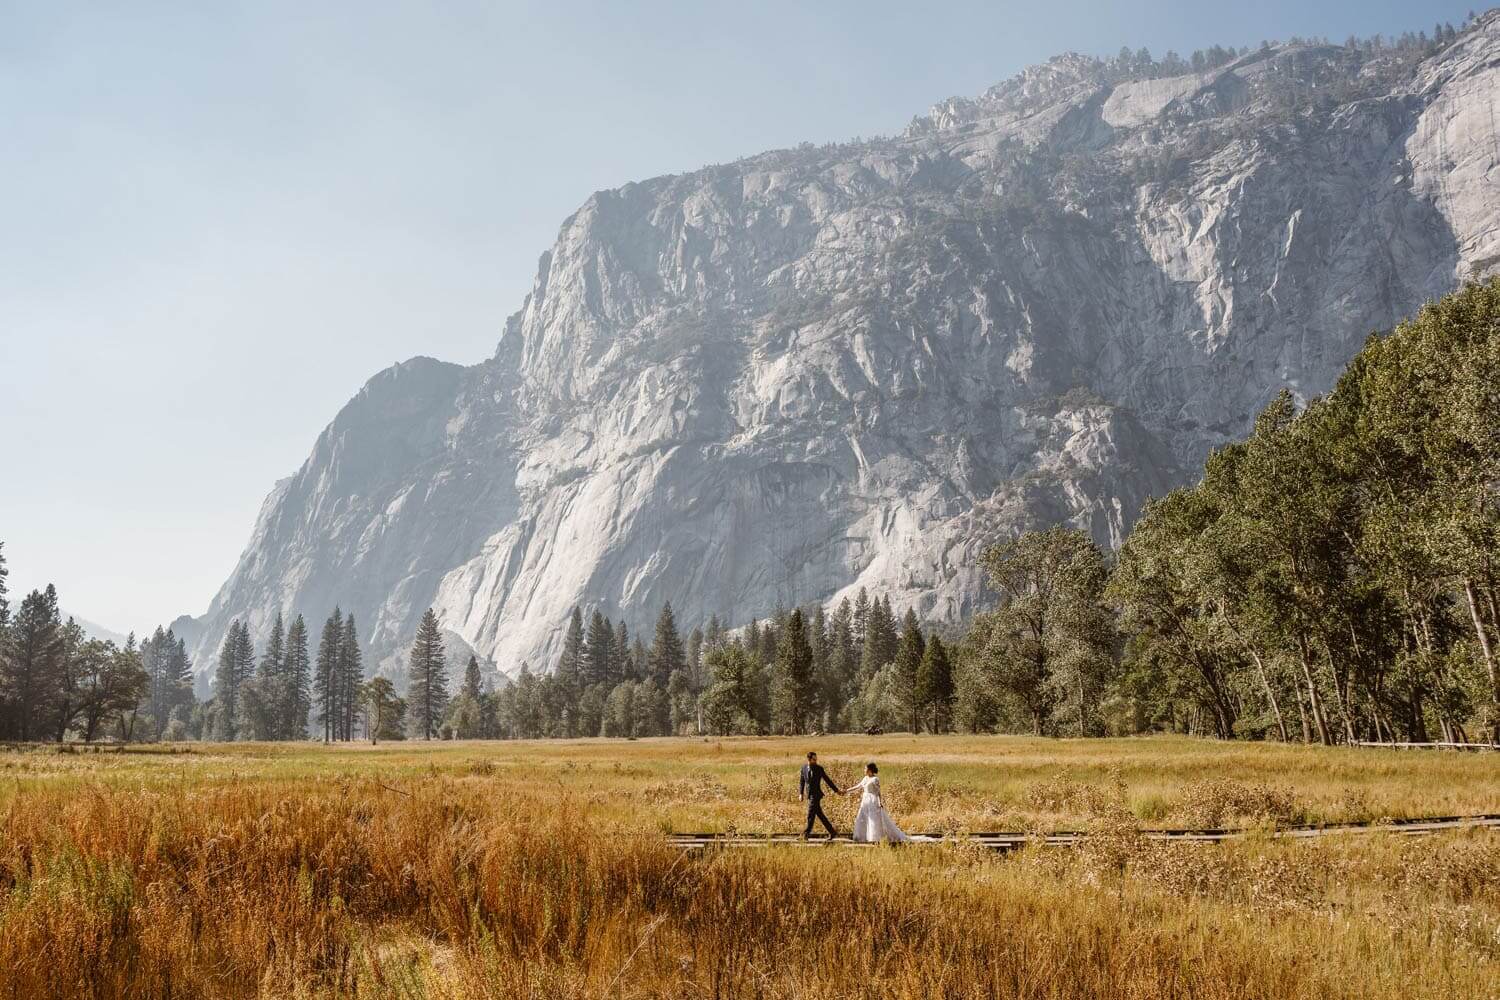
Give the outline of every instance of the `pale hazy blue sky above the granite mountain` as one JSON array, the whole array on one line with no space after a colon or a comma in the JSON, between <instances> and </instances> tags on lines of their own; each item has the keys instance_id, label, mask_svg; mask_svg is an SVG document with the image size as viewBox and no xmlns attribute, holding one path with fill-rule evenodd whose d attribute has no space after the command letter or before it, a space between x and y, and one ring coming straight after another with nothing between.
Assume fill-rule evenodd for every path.
<instances>
[{"instance_id":1,"label":"pale hazy blue sky above the granite mountain","mask_svg":"<svg viewBox=\"0 0 1500 1000\"><path fill-rule=\"evenodd\" d=\"M380 369L476 363L594 190L900 132L1064 51L1431 31L1470 3L0 0L0 541L198 615Z\"/></svg>"}]
</instances>

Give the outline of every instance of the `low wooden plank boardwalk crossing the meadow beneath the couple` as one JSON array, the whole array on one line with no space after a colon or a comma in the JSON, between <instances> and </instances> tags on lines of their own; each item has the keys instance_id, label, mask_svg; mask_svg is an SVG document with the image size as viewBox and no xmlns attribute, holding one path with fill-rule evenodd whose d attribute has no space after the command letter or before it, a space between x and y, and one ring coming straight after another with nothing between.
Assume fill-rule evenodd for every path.
<instances>
[{"instance_id":1,"label":"low wooden plank boardwalk crossing the meadow beneath the couple","mask_svg":"<svg viewBox=\"0 0 1500 1000\"><path fill-rule=\"evenodd\" d=\"M1412 820L1384 820L1374 823L1320 823L1305 826L1282 826L1276 829L1162 829L1142 831L1148 840L1184 841L1190 844L1220 844L1245 837L1270 837L1305 840L1312 837L1330 837L1336 834L1394 834L1398 837L1424 837L1440 831L1490 828L1500 829L1500 813L1484 816L1432 816ZM990 832L968 834L963 837L945 837L930 834L922 843L970 843L988 847L990 850L1020 850L1028 844L1046 844L1048 847L1072 847L1088 838L1088 831L1056 831L1052 834L1023 832ZM848 835L834 841L814 838L804 841L796 834L672 834L668 843L682 850L706 850L722 847L878 847L878 844L856 844Z\"/></svg>"}]
</instances>

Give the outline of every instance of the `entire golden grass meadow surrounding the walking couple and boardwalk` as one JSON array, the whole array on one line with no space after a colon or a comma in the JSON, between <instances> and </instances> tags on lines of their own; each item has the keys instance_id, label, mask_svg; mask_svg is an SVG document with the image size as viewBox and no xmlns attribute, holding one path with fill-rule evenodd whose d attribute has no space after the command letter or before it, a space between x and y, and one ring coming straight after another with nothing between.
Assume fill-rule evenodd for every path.
<instances>
[{"instance_id":1,"label":"entire golden grass meadow surrounding the walking couple and boardwalk","mask_svg":"<svg viewBox=\"0 0 1500 1000\"><path fill-rule=\"evenodd\" d=\"M1076 850L675 853L880 763L909 831ZM0 753L0 997L1500 997L1500 759L1014 738ZM830 799L848 828L852 801Z\"/></svg>"}]
</instances>

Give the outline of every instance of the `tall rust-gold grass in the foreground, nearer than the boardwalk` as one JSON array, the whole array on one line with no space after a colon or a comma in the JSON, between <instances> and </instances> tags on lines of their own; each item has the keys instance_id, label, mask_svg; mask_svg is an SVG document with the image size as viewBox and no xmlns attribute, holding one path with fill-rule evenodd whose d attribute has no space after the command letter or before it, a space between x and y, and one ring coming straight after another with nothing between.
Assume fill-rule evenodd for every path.
<instances>
[{"instance_id":1,"label":"tall rust-gold grass in the foreground, nearer than the boardwalk","mask_svg":"<svg viewBox=\"0 0 1500 1000\"><path fill-rule=\"evenodd\" d=\"M1124 823L1094 853L688 856L615 807L609 778L483 766L33 784L0 816L0 996L1410 1000L1500 982L1492 835L1185 849Z\"/></svg>"}]
</instances>

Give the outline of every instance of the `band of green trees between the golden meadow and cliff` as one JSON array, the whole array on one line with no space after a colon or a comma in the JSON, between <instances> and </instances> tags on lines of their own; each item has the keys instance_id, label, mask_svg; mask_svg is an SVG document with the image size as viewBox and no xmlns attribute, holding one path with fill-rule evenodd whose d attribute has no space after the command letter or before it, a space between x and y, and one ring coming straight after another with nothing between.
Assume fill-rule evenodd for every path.
<instances>
[{"instance_id":1,"label":"band of green trees between the golden meadow and cliff","mask_svg":"<svg viewBox=\"0 0 1500 1000\"><path fill-rule=\"evenodd\" d=\"M1282 390L1118 552L1050 526L996 540L960 627L861 589L684 637L573 609L549 669L456 673L428 610L405 688L366 678L352 615L231 625L213 696L158 628L123 648L12 615L0 547L0 739L579 738L1178 732L1282 742L1500 742L1500 280L1371 336L1326 396ZM399 679L399 678L398 678ZM456 690L452 682L456 682Z\"/></svg>"}]
</instances>

